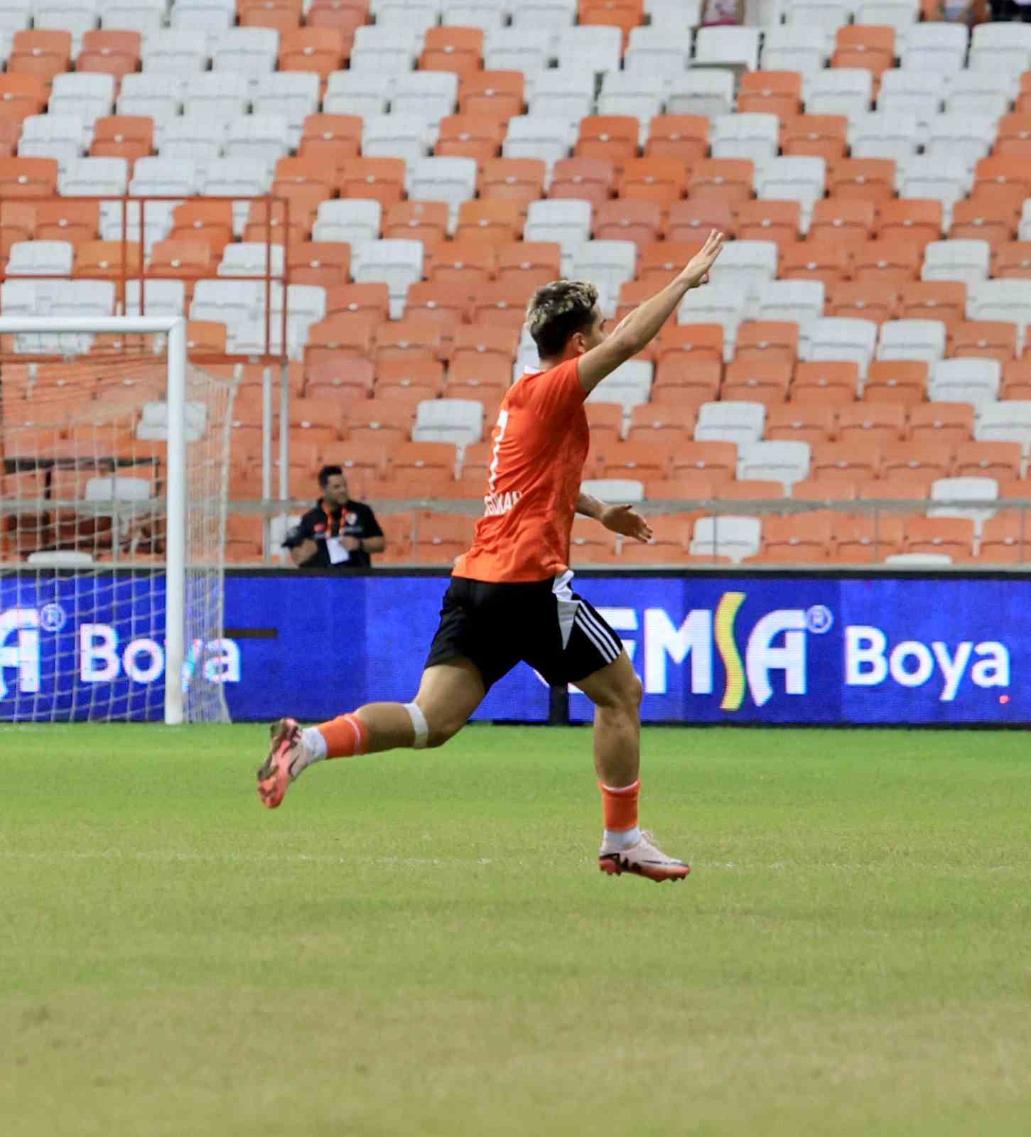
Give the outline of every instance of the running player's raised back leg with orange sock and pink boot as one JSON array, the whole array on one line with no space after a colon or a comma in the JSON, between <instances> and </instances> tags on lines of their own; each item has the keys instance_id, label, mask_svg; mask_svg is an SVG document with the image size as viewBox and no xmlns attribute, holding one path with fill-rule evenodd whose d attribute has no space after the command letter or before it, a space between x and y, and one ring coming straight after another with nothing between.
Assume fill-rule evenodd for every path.
<instances>
[{"instance_id":1,"label":"running player's raised back leg with orange sock and pink boot","mask_svg":"<svg viewBox=\"0 0 1031 1137\"><path fill-rule=\"evenodd\" d=\"M290 782L325 758L350 758L398 748L443 746L466 724L487 694L480 669L462 657L426 667L411 703L366 703L316 727L294 719L273 723L272 744L258 771L258 792L269 808Z\"/></svg>"}]
</instances>

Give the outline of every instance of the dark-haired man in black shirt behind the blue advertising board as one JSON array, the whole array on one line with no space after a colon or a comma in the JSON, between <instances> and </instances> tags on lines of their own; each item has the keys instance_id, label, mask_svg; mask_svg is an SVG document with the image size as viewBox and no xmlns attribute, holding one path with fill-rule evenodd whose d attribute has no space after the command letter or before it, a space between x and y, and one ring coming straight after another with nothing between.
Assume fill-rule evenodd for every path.
<instances>
[{"instance_id":1,"label":"dark-haired man in black shirt behind the blue advertising board","mask_svg":"<svg viewBox=\"0 0 1031 1137\"><path fill-rule=\"evenodd\" d=\"M318 472L322 497L286 533L283 548L298 568L369 568L369 553L386 548L375 514L352 501L340 466Z\"/></svg>"}]
</instances>

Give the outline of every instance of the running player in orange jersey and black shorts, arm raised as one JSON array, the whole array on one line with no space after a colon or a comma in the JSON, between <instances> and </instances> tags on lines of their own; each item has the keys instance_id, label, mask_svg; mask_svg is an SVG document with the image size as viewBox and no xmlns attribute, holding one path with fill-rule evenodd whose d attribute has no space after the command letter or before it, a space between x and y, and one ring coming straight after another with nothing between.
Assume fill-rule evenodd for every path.
<instances>
[{"instance_id":1,"label":"running player in orange jersey and black shorts, arm raised","mask_svg":"<svg viewBox=\"0 0 1031 1137\"><path fill-rule=\"evenodd\" d=\"M582 513L624 537L651 536L629 506L580 492L589 445L583 401L655 338L688 291L708 281L722 248L723 234L714 231L670 284L612 332L592 284L555 281L537 291L526 319L541 370L516 380L501 402L483 516L455 565L415 699L369 703L307 729L293 719L273 723L258 770L268 808L323 758L442 746L490 686L525 661L547 682L572 682L595 704L605 819L599 869L657 881L687 877L690 868L638 825L641 682L620 638L571 588L569 532Z\"/></svg>"}]
</instances>

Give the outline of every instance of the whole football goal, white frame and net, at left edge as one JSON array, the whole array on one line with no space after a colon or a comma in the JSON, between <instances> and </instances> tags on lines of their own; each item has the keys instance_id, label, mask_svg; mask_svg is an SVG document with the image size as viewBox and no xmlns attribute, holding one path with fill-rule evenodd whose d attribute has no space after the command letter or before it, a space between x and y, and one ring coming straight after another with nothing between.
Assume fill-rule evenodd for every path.
<instances>
[{"instance_id":1,"label":"whole football goal, white frame and net, at left edge","mask_svg":"<svg viewBox=\"0 0 1031 1137\"><path fill-rule=\"evenodd\" d=\"M0 318L0 719L228 721L233 396L180 318Z\"/></svg>"}]
</instances>

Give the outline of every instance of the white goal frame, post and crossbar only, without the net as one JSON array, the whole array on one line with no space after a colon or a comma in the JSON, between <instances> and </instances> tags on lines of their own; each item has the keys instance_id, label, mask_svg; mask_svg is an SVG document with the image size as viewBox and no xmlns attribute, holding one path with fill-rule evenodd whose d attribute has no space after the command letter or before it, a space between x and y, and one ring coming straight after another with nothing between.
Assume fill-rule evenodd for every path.
<instances>
[{"instance_id":1,"label":"white goal frame, post and crossbar only, without the net","mask_svg":"<svg viewBox=\"0 0 1031 1137\"><path fill-rule=\"evenodd\" d=\"M184 316L0 316L0 335L80 332L167 335L168 459L165 518L165 723L184 719L180 677L185 662L186 607L186 319Z\"/></svg>"}]
</instances>

